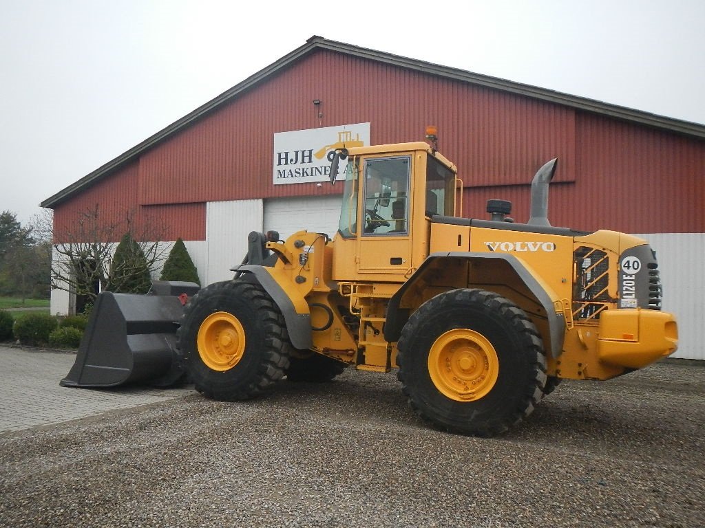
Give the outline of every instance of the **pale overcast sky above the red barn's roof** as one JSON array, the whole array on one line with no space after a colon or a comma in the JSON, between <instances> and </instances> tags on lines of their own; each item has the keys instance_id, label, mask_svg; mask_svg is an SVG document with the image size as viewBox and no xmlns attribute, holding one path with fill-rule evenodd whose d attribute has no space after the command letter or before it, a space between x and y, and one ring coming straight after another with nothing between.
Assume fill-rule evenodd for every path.
<instances>
[{"instance_id":1,"label":"pale overcast sky above the red barn's roof","mask_svg":"<svg viewBox=\"0 0 705 528\"><path fill-rule=\"evenodd\" d=\"M0 0L0 210L27 222L314 34L702 124L704 27L704 0Z\"/></svg>"}]
</instances>

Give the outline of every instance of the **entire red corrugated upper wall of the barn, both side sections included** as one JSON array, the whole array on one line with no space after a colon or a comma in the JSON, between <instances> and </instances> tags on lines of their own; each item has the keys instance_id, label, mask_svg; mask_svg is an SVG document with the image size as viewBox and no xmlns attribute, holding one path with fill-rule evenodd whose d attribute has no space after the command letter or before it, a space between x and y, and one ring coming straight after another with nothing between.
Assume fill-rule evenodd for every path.
<instances>
[{"instance_id":1,"label":"entire red corrugated upper wall of the barn, both side sections included","mask_svg":"<svg viewBox=\"0 0 705 528\"><path fill-rule=\"evenodd\" d=\"M321 100L319 108L313 99ZM560 183L549 203L553 225L705 231L703 189L696 186L705 172L703 142L322 50L62 205L60 225L67 225L61 224L63 209L99 201L123 214L149 206L173 222L172 234L203 239L204 202L342 191L272 184L275 132L368 121L373 144L417 141L426 125L437 125L439 149L465 182L469 216L486 218L486 199L504 198L515 203L515 218L526 220L527 184L558 156Z\"/></svg>"}]
</instances>

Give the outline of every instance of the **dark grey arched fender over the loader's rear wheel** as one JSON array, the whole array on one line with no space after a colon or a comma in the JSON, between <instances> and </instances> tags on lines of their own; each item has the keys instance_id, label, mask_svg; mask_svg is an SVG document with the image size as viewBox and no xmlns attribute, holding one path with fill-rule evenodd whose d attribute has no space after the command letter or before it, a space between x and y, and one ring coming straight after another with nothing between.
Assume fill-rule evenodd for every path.
<instances>
[{"instance_id":1,"label":"dark grey arched fender over the loader's rear wheel","mask_svg":"<svg viewBox=\"0 0 705 528\"><path fill-rule=\"evenodd\" d=\"M528 266L519 258L508 253L477 253L471 251L451 251L449 253L431 253L426 260L419 266L419 269L409 277L407 282L392 296L389 301L384 324L384 339L389 342L396 342L401 336L401 331L411 315L411 310L408 308L400 308L405 293L417 282L422 279L429 271L429 268L439 263L439 259L467 259L467 260L483 260L485 262L491 260L501 260L512 268L517 274L517 277L524 282L525 286L531 291L539 304L546 312L548 318L548 333L550 343L546 349L551 351L553 358L558 358L563 351L563 340L565 339L565 315L563 314L563 302L546 284L543 284L537 275L528 268ZM561 309L556 310L556 306Z\"/></svg>"}]
</instances>

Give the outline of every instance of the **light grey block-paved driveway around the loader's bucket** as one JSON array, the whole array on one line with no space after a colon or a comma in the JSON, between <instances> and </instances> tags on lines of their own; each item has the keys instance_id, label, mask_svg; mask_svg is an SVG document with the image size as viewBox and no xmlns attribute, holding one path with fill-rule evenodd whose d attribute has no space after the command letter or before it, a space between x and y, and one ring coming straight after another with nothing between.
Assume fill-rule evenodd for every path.
<instances>
[{"instance_id":1,"label":"light grey block-paved driveway around the loader's bucket","mask_svg":"<svg viewBox=\"0 0 705 528\"><path fill-rule=\"evenodd\" d=\"M59 386L76 356L0 346L0 434L180 398L192 389Z\"/></svg>"}]
</instances>

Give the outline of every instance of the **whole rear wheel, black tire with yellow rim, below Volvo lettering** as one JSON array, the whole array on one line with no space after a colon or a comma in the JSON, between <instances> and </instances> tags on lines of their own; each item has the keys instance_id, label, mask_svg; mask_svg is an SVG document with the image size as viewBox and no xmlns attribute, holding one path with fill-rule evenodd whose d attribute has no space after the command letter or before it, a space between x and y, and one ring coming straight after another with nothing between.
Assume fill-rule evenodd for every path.
<instances>
[{"instance_id":1,"label":"whole rear wheel, black tire with yellow rim, below Volvo lettering","mask_svg":"<svg viewBox=\"0 0 705 528\"><path fill-rule=\"evenodd\" d=\"M435 425L494 436L534 410L546 384L537 328L507 298L457 289L412 314L398 342L398 377L412 408Z\"/></svg>"}]
</instances>

